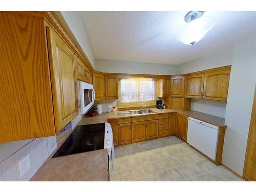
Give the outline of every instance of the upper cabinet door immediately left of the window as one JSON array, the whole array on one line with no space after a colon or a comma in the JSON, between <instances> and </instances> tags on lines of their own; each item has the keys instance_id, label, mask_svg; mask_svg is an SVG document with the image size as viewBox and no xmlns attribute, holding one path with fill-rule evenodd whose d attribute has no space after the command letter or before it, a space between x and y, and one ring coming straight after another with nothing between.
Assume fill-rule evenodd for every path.
<instances>
[{"instance_id":1,"label":"upper cabinet door immediately left of the window","mask_svg":"<svg viewBox=\"0 0 256 192\"><path fill-rule=\"evenodd\" d=\"M117 99L117 77L116 76L105 76L105 98L106 99Z\"/></svg>"}]
</instances>

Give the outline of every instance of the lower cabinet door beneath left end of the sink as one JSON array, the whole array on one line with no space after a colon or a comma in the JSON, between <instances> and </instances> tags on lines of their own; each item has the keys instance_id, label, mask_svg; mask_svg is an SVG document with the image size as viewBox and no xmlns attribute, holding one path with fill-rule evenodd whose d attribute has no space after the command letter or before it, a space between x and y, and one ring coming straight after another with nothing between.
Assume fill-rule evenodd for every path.
<instances>
[{"instance_id":1,"label":"lower cabinet door beneath left end of the sink","mask_svg":"<svg viewBox=\"0 0 256 192\"><path fill-rule=\"evenodd\" d=\"M132 123L118 125L118 144L132 143Z\"/></svg>"}]
</instances>

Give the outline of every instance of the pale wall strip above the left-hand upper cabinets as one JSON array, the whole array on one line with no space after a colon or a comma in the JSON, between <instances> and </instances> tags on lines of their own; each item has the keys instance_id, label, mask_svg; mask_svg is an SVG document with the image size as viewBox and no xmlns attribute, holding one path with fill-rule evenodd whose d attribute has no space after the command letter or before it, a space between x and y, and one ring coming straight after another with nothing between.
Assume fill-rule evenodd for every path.
<instances>
[{"instance_id":1,"label":"pale wall strip above the left-hand upper cabinets","mask_svg":"<svg viewBox=\"0 0 256 192\"><path fill-rule=\"evenodd\" d=\"M95 69L95 55L80 11L60 11L56 12L56 15L65 28L68 28L69 34L73 34L73 37L77 41L77 45L80 46L80 49Z\"/></svg>"}]
</instances>

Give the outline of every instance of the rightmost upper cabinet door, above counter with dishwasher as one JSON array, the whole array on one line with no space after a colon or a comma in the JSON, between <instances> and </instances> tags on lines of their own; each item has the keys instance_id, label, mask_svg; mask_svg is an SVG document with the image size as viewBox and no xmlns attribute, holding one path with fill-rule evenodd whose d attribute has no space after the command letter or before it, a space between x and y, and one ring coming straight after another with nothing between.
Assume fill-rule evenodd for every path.
<instances>
[{"instance_id":1,"label":"rightmost upper cabinet door, above counter with dishwasher","mask_svg":"<svg viewBox=\"0 0 256 192\"><path fill-rule=\"evenodd\" d=\"M227 100L230 70L206 73L204 76L204 99Z\"/></svg>"}]
</instances>

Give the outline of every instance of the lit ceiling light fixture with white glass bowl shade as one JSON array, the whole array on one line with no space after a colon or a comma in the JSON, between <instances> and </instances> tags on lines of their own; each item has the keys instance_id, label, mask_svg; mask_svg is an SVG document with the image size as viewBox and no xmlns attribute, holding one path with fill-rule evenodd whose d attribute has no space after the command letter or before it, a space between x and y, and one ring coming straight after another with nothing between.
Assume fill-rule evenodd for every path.
<instances>
[{"instance_id":1,"label":"lit ceiling light fixture with white glass bowl shade","mask_svg":"<svg viewBox=\"0 0 256 192\"><path fill-rule=\"evenodd\" d=\"M179 29L176 38L186 45L194 45L202 39L216 23L215 17L201 17L203 14L204 11L189 11L184 17L187 24Z\"/></svg>"}]
</instances>

